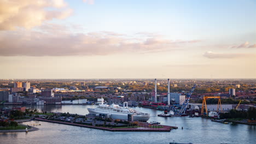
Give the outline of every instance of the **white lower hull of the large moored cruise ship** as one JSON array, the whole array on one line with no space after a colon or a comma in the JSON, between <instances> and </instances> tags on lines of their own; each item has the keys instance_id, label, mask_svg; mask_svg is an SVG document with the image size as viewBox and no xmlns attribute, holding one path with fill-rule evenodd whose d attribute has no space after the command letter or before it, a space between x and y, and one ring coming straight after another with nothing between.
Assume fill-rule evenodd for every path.
<instances>
[{"instance_id":1,"label":"white lower hull of the large moored cruise ship","mask_svg":"<svg viewBox=\"0 0 256 144\"><path fill-rule=\"evenodd\" d=\"M108 115L110 115L111 118L124 119L124 120L128 119L128 114L129 114L129 113L121 113L121 112L115 112L115 111L97 111L95 109L90 109L90 108L88 108L88 111L91 114L108 114ZM143 116L143 115L133 114L133 121L146 122L146 121L148 121L149 118L150 118L150 116L147 116L147 115Z\"/></svg>"}]
</instances>

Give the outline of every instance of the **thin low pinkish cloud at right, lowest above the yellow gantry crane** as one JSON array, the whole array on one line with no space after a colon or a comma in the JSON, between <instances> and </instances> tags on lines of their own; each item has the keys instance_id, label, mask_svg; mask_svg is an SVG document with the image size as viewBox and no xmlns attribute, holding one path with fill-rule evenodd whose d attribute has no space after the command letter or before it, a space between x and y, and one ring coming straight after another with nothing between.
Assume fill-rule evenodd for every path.
<instances>
[{"instance_id":1,"label":"thin low pinkish cloud at right, lowest above the yellow gantry crane","mask_svg":"<svg viewBox=\"0 0 256 144\"><path fill-rule=\"evenodd\" d=\"M204 57L207 58L237 58L237 57L247 57L247 56L254 56L251 53L217 53L207 51L203 54Z\"/></svg>"}]
</instances>

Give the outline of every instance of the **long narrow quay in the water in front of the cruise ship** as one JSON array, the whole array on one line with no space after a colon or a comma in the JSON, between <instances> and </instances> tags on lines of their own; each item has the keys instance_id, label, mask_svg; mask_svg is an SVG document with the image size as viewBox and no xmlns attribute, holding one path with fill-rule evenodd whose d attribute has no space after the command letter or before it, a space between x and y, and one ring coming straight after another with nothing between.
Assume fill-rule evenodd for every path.
<instances>
[{"instance_id":1,"label":"long narrow quay in the water in front of the cruise ship","mask_svg":"<svg viewBox=\"0 0 256 144\"><path fill-rule=\"evenodd\" d=\"M62 122L62 121L54 121L44 118L34 118L34 120L37 121L43 121L43 122L50 122L50 123L59 123L59 124L67 124L67 125L73 125L78 127L85 127L85 128L92 128L92 129L101 129L101 130L107 130L107 131L171 131L172 129L178 129L178 127L172 127L168 125L159 125L155 124L153 127L147 127L149 123L144 123L143 126L145 127L131 127L131 128L108 128L108 127L100 127L95 125L86 125L86 124L79 124L79 123L72 123L72 122ZM156 127L156 128L154 128ZM161 128L158 128L161 127Z\"/></svg>"}]
</instances>

